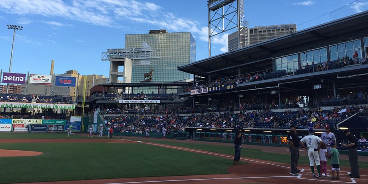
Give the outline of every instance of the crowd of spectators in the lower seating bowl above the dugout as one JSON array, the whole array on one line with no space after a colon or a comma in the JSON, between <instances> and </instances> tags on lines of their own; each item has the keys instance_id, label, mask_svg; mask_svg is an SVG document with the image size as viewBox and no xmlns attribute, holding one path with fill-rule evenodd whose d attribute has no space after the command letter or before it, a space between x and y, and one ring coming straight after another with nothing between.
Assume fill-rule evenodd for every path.
<instances>
[{"instance_id":1,"label":"crowd of spectators in the lower seating bowl above the dugout","mask_svg":"<svg viewBox=\"0 0 368 184\"><path fill-rule=\"evenodd\" d=\"M240 125L244 128L289 128L290 125L296 125L301 129L315 128L319 129L325 125L334 127L345 118L358 113L360 115L368 114L366 106L342 106L335 107L332 110L304 110L299 108L297 111L286 110L284 112L272 112L271 110L256 110L238 113L198 113L188 116L179 116L178 114L163 115L143 115L138 121L131 121L131 124L124 122L120 125L119 132L141 133L149 128L151 132L160 132L163 127L168 131L183 130L185 127L204 127L204 128L233 128ZM127 117L129 115L125 115ZM117 116L119 121L121 116ZM119 124L119 123L117 123ZM119 126L119 125L117 125Z\"/></svg>"}]
</instances>

